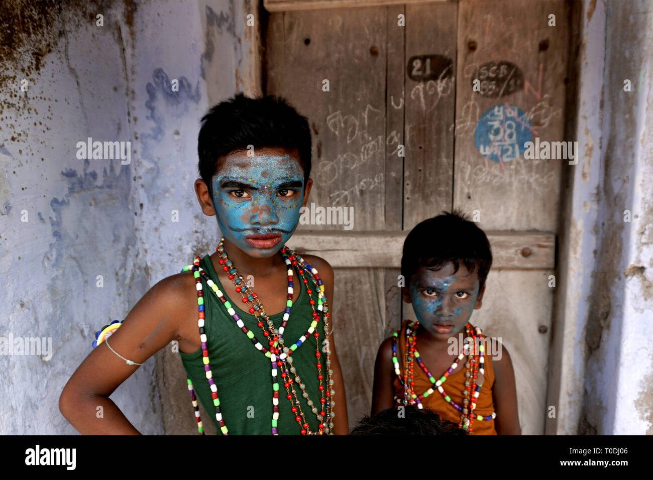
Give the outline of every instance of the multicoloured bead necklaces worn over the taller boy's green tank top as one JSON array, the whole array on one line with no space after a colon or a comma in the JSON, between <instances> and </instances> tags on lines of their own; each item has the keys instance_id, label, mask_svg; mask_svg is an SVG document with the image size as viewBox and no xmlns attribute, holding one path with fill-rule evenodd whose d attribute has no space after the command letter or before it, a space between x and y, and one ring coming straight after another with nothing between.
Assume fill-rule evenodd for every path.
<instances>
[{"instance_id":1,"label":"multicoloured bead necklaces worn over the taller boy's green tank top","mask_svg":"<svg viewBox=\"0 0 653 480\"><path fill-rule=\"evenodd\" d=\"M270 358L270 361L272 362L271 376L272 376L272 388L273 388L273 395L272 395L273 413L272 413L271 433L273 435L278 434L277 432L277 425L279 419L278 369L281 368L281 378L284 381L283 385L287 391L286 398L291 402L292 405L291 411L293 412L293 414L296 415L295 420L301 426L300 433L302 435L332 434L332 429L333 429L332 419L335 417L335 412L334 412L335 402L332 399L332 396L335 394L335 391L332 389L333 388L332 386L334 385L334 381L332 379L333 370L330 369L331 352L328 348L329 345L328 336L330 335L328 320L330 318L330 313L328 312L327 298L324 294L324 285L322 283L322 280L319 278L319 274L317 273L317 270L313 268L311 264L304 261L302 257L297 255L291 249L285 246L281 249L281 255L288 268L288 296L286 302L286 309L285 312L283 313L283 322L281 323L281 326L277 329L272 324L272 321L270 321L269 316L266 315L263 308L263 304L259 300L257 294L253 291L249 292L249 290L251 289L249 288L247 283L244 282L242 276L238 275L238 272L236 271L236 268L234 268L232 261L229 260L229 257L227 257L227 253L224 251L223 245L224 245L224 237L221 238L219 246L216 248L220 256L219 263L223 266L223 270L225 272L228 272L229 280L231 280L234 283L236 287L236 292L240 293L243 303L247 304L247 306L249 307L249 313L252 313L259 320L257 325L263 330L263 335L266 338L269 338L268 340L269 349L267 347L264 347L263 344L261 344L261 342L257 340L254 333L251 332L251 330L249 330L244 325L244 323L242 322L240 317L238 317L238 314L235 312L229 300L227 300L227 298L223 295L223 293L218 289L217 285L215 285L214 281L212 281L208 277L206 272L204 272L204 270L199 266L200 257L195 257L195 261L193 262L193 265L184 267L182 271L193 270L193 274L195 276L196 283L197 283L198 304L199 304L198 325L200 327L200 340L202 341L202 359L204 361L204 368L207 372L206 377L209 381L212 390L212 397L214 399L214 406L216 409L215 417L220 425L221 432L225 435L228 434L227 427L224 424L224 420L222 419L222 415L219 411L219 400L217 398L217 389L212 379L212 374L211 374L210 364L208 359L208 348L206 346L206 334L204 332L204 300L203 300L204 294L202 292L202 283L200 277L206 280L207 285L212 289L212 291L217 296L217 298L219 298L221 304L223 304L223 307L227 310L229 315L233 317L234 321L236 321L236 325L238 325L238 327L240 327L240 329L244 332L244 334L246 334L247 338L251 340L251 342L254 344L257 350L262 351L264 355ZM285 330L285 327L287 327L287 323L291 315L291 308L293 305L293 286L294 286L293 266L297 266L298 273L302 277L303 283L307 285L307 293L310 297L309 303L311 305L311 308L313 309L313 313L312 313L313 318L311 321L311 325L308 328L306 334L302 335L299 340L297 340L294 344L291 345L291 347L285 347L283 345L285 343L285 339L283 339L283 331ZM319 317L319 313L315 311L316 302L312 298L311 294L313 293L313 291L309 288L308 285L309 280L306 278L306 276L308 276L308 278L315 286L315 289L317 290L317 295L318 295L317 310L319 312L323 312L323 323L324 323L323 328L326 336L325 340L323 341L323 344L325 345L323 351L325 351L327 355L326 379L321 370L322 369L321 360L319 360L321 357L321 353L319 351L319 332L315 331L315 327L317 327L317 323L319 323L320 317ZM266 321L266 323L268 324L267 330L264 327L261 319ZM306 385L302 383L301 378L296 374L296 368L293 366L293 359L290 356L290 353L292 351L295 351L298 347L300 347L300 345L302 345L306 341L306 339L309 338L311 335L315 338L315 342L316 342L315 357L317 358L317 364L316 364L318 370L317 378L319 379L318 389L321 392L321 398L320 398L321 411L318 411L315 404L313 404L313 402L310 400L308 396L308 392L306 392ZM281 349L283 350L282 353L280 353ZM295 376L295 378L294 379L291 378L291 375ZM323 385L323 379L326 380L326 384L327 384L326 394L325 394L325 386ZM293 383L299 385L299 388L302 391L302 397L306 399L306 404L311 409L311 413L313 413L317 418L317 421L319 422L318 432L311 432L309 428L309 424L306 422L306 417L304 415L304 412L301 409L301 404L298 399L297 392L293 388L292 385ZM195 417L198 422L198 431L200 432L200 434L203 435L204 432L199 417L199 408L197 406L197 396L195 396L195 391L193 390L193 384L191 383L190 379L188 379L188 388L191 394L191 401L193 403L193 408L195 408ZM293 398L295 399L294 402L293 402ZM325 422L327 421L328 421L328 425L325 424Z\"/></svg>"}]
</instances>

